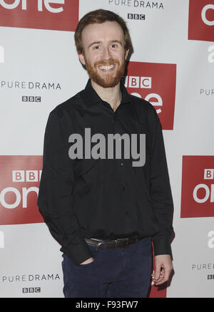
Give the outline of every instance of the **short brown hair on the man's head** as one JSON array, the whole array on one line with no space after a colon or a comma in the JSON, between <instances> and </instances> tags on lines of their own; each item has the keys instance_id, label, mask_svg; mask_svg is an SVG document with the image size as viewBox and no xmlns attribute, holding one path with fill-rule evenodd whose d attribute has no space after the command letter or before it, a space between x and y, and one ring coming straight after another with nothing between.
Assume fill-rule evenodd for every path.
<instances>
[{"instance_id":1,"label":"short brown hair on the man's head","mask_svg":"<svg viewBox=\"0 0 214 312\"><path fill-rule=\"evenodd\" d=\"M83 28L85 28L89 24L102 24L105 21L116 21L121 26L123 33L124 33L125 50L127 51L128 49L132 48L131 37L128 31L128 28L126 26L126 21L124 21L121 18L121 16L118 16L118 14L112 11L98 9L95 11L88 12L78 22L76 31L74 33L76 50L78 53L80 54L83 53L83 45L82 45Z\"/></svg>"}]
</instances>

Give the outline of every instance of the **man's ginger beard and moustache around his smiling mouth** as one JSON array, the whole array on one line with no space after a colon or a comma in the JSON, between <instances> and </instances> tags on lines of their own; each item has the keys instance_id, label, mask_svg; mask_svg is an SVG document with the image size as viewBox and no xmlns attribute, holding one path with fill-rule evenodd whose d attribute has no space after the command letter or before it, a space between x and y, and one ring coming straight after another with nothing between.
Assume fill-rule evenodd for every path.
<instances>
[{"instance_id":1,"label":"man's ginger beard and moustache around his smiling mouth","mask_svg":"<svg viewBox=\"0 0 214 312\"><path fill-rule=\"evenodd\" d=\"M85 57L86 70L88 76L93 80L97 85L100 85L103 88L113 88L118 82L123 78L126 59L123 58L122 63L118 60L111 58L108 61L98 61L94 64L91 64L87 61ZM109 71L101 70L101 66L113 66ZM115 69L115 66L117 67Z\"/></svg>"}]
</instances>

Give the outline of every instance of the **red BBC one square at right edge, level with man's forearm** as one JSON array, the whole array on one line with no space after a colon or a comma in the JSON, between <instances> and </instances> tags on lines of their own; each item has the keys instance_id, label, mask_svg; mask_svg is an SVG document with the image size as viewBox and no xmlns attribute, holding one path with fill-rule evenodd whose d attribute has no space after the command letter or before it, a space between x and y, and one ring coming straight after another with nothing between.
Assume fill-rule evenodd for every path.
<instances>
[{"instance_id":1,"label":"red BBC one square at right edge, level with man's forearm","mask_svg":"<svg viewBox=\"0 0 214 312\"><path fill-rule=\"evenodd\" d=\"M214 156L183 156L180 217L214 217Z\"/></svg>"}]
</instances>

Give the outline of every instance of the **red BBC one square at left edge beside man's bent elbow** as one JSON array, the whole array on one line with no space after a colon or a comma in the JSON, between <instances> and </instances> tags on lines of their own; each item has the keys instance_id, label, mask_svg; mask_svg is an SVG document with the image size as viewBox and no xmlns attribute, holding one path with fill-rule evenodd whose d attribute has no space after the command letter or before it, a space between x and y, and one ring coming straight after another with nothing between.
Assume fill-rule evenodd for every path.
<instances>
[{"instance_id":1,"label":"red BBC one square at left edge beside man's bent elbow","mask_svg":"<svg viewBox=\"0 0 214 312\"><path fill-rule=\"evenodd\" d=\"M0 156L0 224L41 223L37 207L42 156Z\"/></svg>"}]
</instances>

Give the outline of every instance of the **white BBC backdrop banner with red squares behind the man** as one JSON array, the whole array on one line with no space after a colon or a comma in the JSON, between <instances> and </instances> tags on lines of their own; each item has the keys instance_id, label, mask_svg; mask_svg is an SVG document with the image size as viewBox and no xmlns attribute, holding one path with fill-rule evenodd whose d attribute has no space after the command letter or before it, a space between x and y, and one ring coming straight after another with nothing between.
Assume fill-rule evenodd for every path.
<instances>
[{"instance_id":1,"label":"white BBC backdrop banner with red squares behind the man","mask_svg":"<svg viewBox=\"0 0 214 312\"><path fill-rule=\"evenodd\" d=\"M126 20L126 88L163 127L174 274L149 296L214 297L213 0L0 0L0 297L63 297L60 246L36 201L49 113L88 80L73 35L94 9Z\"/></svg>"}]
</instances>

